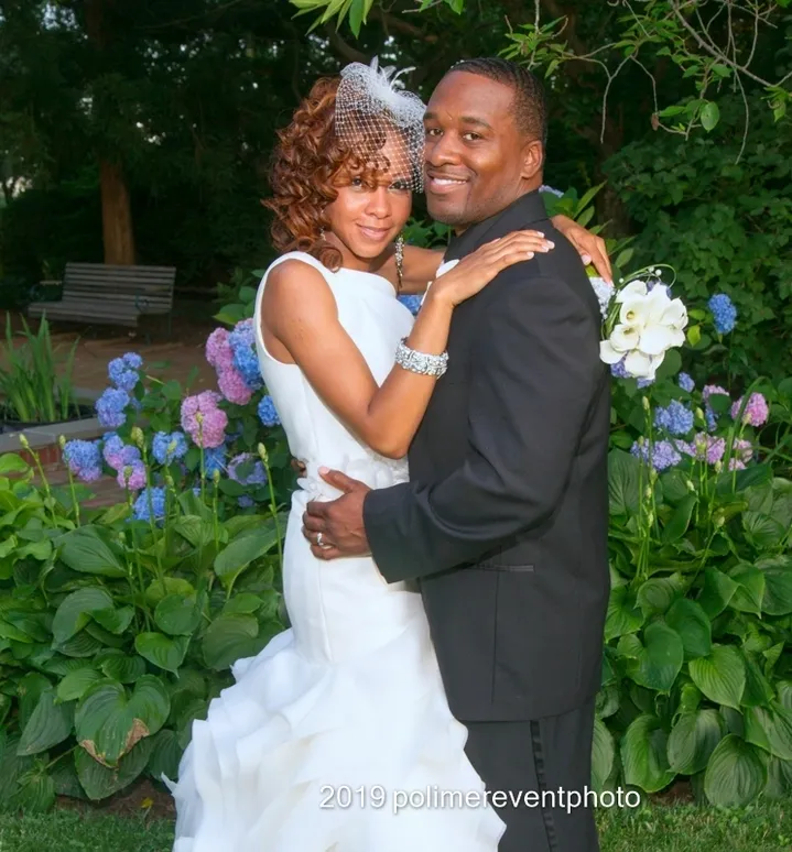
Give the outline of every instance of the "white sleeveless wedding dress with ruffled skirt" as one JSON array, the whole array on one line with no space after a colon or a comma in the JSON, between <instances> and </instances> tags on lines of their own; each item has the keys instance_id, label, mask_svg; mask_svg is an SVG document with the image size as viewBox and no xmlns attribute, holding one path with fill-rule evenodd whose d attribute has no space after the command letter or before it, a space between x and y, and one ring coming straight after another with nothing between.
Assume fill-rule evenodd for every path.
<instances>
[{"instance_id":1,"label":"white sleeveless wedding dress with ruffled skirt","mask_svg":"<svg viewBox=\"0 0 792 852\"><path fill-rule=\"evenodd\" d=\"M381 384L413 323L391 284L297 252L268 273L289 258L322 272ZM285 536L292 626L236 663L236 684L194 723L171 785L174 852L496 852L505 824L448 710L420 593L389 586L369 557L315 559L301 529L308 500L338 496L319 466L382 488L408 479L406 460L361 445L254 327L290 450L306 462Z\"/></svg>"}]
</instances>

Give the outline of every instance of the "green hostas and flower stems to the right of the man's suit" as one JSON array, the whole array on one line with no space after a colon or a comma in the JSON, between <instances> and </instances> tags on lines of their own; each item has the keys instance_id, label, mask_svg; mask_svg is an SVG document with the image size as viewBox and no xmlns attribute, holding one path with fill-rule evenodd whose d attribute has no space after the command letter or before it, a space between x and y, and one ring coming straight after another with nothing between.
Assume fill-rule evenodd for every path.
<instances>
[{"instance_id":1,"label":"green hostas and flower stems to the right of the man's suit","mask_svg":"<svg viewBox=\"0 0 792 852\"><path fill-rule=\"evenodd\" d=\"M792 379L749 389L770 406L753 426L745 403L733 417L676 370L615 389L594 778L652 793L686 776L741 806L792 789ZM672 400L695 412L688 433L658 419ZM655 457L661 443L674 459Z\"/></svg>"}]
</instances>

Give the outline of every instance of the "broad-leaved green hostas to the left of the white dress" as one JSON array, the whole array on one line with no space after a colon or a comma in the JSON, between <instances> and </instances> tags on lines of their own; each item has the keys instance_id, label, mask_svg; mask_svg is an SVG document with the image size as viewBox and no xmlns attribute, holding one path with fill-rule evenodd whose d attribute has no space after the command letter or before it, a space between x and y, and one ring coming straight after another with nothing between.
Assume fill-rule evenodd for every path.
<instances>
[{"instance_id":1,"label":"broad-leaved green hostas to the left of the white dress","mask_svg":"<svg viewBox=\"0 0 792 852\"><path fill-rule=\"evenodd\" d=\"M80 515L76 487L0 461L0 801L175 777L231 663L283 630L276 506L224 521L189 492L161 526L123 504Z\"/></svg>"}]
</instances>

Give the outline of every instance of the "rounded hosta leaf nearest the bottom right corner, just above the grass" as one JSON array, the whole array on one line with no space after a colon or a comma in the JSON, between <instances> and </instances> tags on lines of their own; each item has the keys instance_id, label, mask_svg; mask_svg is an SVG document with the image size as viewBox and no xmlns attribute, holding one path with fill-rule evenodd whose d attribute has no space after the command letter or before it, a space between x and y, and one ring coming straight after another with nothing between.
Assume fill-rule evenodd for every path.
<instances>
[{"instance_id":1,"label":"rounded hosta leaf nearest the bottom right corner, just above the grass","mask_svg":"<svg viewBox=\"0 0 792 852\"><path fill-rule=\"evenodd\" d=\"M704 775L704 793L722 808L753 801L767 783L767 769L756 750L736 734L727 734L716 746Z\"/></svg>"}]
</instances>

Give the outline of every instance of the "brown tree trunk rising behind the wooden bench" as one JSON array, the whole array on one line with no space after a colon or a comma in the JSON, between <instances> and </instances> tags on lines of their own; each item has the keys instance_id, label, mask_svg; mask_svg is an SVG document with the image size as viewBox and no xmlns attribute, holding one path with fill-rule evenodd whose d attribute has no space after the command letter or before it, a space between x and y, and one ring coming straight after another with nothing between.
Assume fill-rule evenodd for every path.
<instances>
[{"instance_id":1,"label":"brown tree trunk rising behind the wooden bench","mask_svg":"<svg viewBox=\"0 0 792 852\"><path fill-rule=\"evenodd\" d=\"M111 57L111 29L107 24L107 10L115 0L86 0L85 23L88 41L101 57L99 67L106 69ZM107 108L102 99L97 99L94 109L100 113ZM110 107L112 108L112 107ZM112 162L101 154L99 160L99 179L101 184L101 228L105 245L105 263L133 265L135 261L134 231L132 228L132 207L129 189L121 163Z\"/></svg>"}]
</instances>

